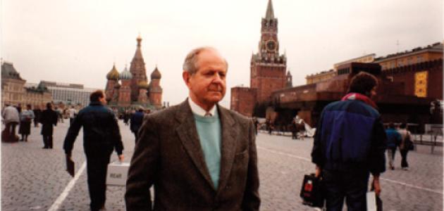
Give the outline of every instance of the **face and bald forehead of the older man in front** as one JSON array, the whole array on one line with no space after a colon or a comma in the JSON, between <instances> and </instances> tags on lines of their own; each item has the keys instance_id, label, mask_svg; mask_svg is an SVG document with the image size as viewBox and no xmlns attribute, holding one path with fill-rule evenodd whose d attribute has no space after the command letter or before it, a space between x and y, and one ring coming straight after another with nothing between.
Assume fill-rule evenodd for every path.
<instances>
[{"instance_id":1,"label":"face and bald forehead of the older man in front","mask_svg":"<svg viewBox=\"0 0 444 211\"><path fill-rule=\"evenodd\" d=\"M217 51L207 49L197 56L197 67L193 75L183 72L183 79L192 100L202 108L210 109L225 96L226 63Z\"/></svg>"}]
</instances>

